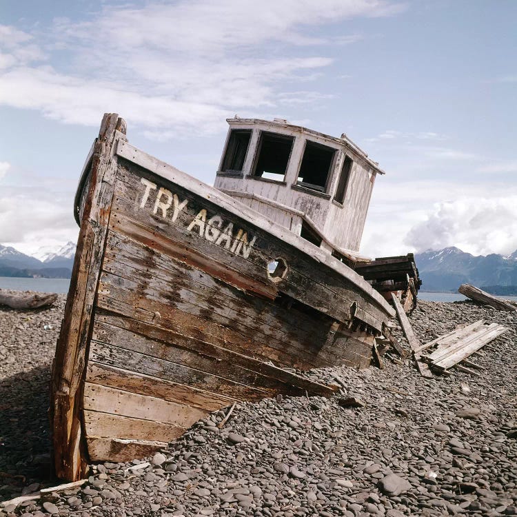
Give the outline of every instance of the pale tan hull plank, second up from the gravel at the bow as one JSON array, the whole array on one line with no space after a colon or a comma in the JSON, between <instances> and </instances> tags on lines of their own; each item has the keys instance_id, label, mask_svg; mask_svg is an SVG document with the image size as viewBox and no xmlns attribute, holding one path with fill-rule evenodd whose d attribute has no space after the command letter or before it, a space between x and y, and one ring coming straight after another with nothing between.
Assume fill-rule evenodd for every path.
<instances>
[{"instance_id":1,"label":"pale tan hull plank, second up from the gravel at the bow","mask_svg":"<svg viewBox=\"0 0 517 517\"><path fill-rule=\"evenodd\" d=\"M124 440L148 440L150 436L159 442L170 442L187 430L170 423L143 420L118 414L101 413L88 409L83 413L86 436L122 438Z\"/></svg>"}]
</instances>

